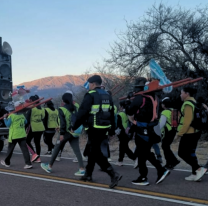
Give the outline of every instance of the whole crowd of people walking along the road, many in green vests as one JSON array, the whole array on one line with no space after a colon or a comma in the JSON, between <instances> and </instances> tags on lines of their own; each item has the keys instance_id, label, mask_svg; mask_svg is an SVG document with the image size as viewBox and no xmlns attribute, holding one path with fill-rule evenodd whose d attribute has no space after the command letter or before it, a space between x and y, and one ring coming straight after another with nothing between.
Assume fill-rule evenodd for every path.
<instances>
[{"instance_id":1,"label":"whole crowd of people walking along the road, many in green vests","mask_svg":"<svg viewBox=\"0 0 208 206\"><path fill-rule=\"evenodd\" d=\"M93 75L88 79L89 91L79 106L73 100L73 93L66 91L62 95L62 105L56 109L52 101L29 110L25 115L20 112L4 115L4 122L9 127L8 150L6 158L1 164L10 167L11 157L15 145L18 143L25 160L25 169L32 168L32 163L41 163L41 137L47 145L46 155L51 155L48 163L41 163L41 168L51 173L55 160L60 160L61 153L66 142L69 142L77 158L79 167L74 174L81 176L83 181L92 181L95 164L110 177L110 188L114 188L121 180L122 175L115 171L109 163L110 157L109 138L117 135L119 140L119 157L117 166L123 165L125 154L135 161L134 168L139 169L139 176L132 180L135 185L149 185L147 160L156 168L156 184L161 183L170 174L180 160L171 150L171 144L179 141L178 156L190 165L192 173L185 177L187 181L201 181L207 173L208 162L201 166L196 156L197 143L201 131L193 125L195 118L196 89L185 86L181 89L182 106L179 112L173 108L170 97L161 100L155 92L128 96L127 100L120 101L119 109L115 107L111 93L102 86L99 75ZM147 80L137 78L134 92L144 90ZM38 100L37 95L31 96L31 101ZM162 112L159 112L161 105ZM208 107L202 104L208 111ZM6 108L8 113L15 108ZM174 121L177 124L174 124ZM88 141L82 154L79 146L79 136L84 126ZM53 137L58 133L56 144ZM129 141L134 139L135 149L129 148ZM31 144L34 140L35 148ZM164 160L158 143L161 142ZM152 148L155 152L152 151ZM30 154L31 153L31 158ZM87 158L84 166L83 155Z\"/></svg>"}]
</instances>

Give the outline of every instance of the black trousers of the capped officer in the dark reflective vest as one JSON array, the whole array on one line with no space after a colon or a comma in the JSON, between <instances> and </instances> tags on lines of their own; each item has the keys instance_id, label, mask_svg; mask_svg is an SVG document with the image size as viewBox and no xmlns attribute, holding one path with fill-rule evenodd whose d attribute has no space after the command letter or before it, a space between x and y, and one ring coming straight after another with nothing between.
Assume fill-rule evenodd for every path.
<instances>
[{"instance_id":1,"label":"black trousers of the capped officer in the dark reflective vest","mask_svg":"<svg viewBox=\"0 0 208 206\"><path fill-rule=\"evenodd\" d=\"M87 149L87 156L88 156L88 163L86 166L86 173L91 176L95 167L95 163L97 163L100 168L106 172L111 164L108 162L108 157L104 156L101 151L101 144L103 140L108 139L108 129L95 129L89 128L88 130L88 145ZM108 141L106 141L108 142ZM108 151L108 145L106 145L106 151Z\"/></svg>"}]
</instances>

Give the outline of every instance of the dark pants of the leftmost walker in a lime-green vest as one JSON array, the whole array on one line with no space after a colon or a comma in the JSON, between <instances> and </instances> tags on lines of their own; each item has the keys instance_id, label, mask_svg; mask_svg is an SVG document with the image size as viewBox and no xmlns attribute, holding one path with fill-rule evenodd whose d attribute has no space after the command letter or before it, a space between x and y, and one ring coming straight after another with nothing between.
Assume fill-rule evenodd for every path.
<instances>
[{"instance_id":1,"label":"dark pants of the leftmost walker in a lime-green vest","mask_svg":"<svg viewBox=\"0 0 208 206\"><path fill-rule=\"evenodd\" d=\"M7 150L7 156L5 158L5 163L7 165L10 165L10 159L12 157L14 148L15 148L17 143L19 144L20 149L22 150L24 160L25 160L25 164L31 165L30 153L29 153L27 145L26 145L26 138L14 139L14 140L12 140L11 143L10 142L8 143L8 150Z\"/></svg>"}]
</instances>

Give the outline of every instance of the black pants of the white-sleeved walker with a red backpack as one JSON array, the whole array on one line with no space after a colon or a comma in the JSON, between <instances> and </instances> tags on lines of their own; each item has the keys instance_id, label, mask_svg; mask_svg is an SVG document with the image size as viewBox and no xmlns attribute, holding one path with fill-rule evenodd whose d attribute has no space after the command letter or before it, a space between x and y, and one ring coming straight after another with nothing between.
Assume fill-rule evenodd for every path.
<instances>
[{"instance_id":1,"label":"black pants of the white-sleeved walker with a red backpack","mask_svg":"<svg viewBox=\"0 0 208 206\"><path fill-rule=\"evenodd\" d=\"M162 149L166 159L166 165L175 165L178 159L173 154L170 145L172 144L174 137L176 135L176 130L165 131L165 137L162 139Z\"/></svg>"}]
</instances>

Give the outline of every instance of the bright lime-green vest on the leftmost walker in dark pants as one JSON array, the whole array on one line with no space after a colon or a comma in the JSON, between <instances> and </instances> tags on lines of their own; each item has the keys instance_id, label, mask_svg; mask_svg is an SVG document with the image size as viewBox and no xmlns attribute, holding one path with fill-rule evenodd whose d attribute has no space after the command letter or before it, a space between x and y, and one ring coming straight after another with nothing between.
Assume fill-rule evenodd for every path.
<instances>
[{"instance_id":1,"label":"bright lime-green vest on the leftmost walker in dark pants","mask_svg":"<svg viewBox=\"0 0 208 206\"><path fill-rule=\"evenodd\" d=\"M23 114L11 114L8 118L11 118L8 141L11 143L13 139L26 137L25 116Z\"/></svg>"}]
</instances>

